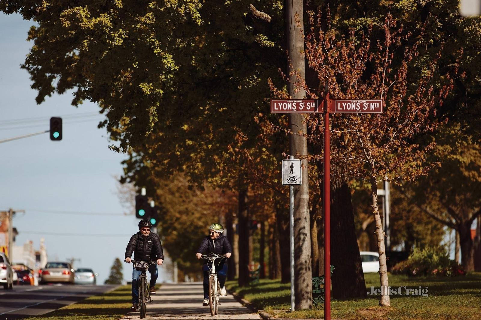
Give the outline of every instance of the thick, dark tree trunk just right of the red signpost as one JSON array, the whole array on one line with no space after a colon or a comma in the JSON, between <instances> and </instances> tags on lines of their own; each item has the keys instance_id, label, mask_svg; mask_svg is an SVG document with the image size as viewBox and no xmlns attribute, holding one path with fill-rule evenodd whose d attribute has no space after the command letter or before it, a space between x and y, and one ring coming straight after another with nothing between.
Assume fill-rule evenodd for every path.
<instances>
[{"instance_id":1,"label":"thick, dark tree trunk just right of the red signpost","mask_svg":"<svg viewBox=\"0 0 481 320\"><path fill-rule=\"evenodd\" d=\"M335 268L332 273L332 297L364 298L366 283L357 245L347 170L342 165L333 164L331 172L331 264Z\"/></svg>"}]
</instances>

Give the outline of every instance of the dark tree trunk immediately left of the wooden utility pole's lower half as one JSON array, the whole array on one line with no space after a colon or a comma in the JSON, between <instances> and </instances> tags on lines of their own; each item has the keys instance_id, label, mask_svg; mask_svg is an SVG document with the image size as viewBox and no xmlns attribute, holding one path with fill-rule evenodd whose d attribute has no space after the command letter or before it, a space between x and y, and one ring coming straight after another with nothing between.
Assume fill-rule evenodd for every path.
<instances>
[{"instance_id":1,"label":"dark tree trunk immediately left of the wooden utility pole's lower half","mask_svg":"<svg viewBox=\"0 0 481 320\"><path fill-rule=\"evenodd\" d=\"M291 241L289 237L289 214L281 206L276 208L277 234L279 240L280 255L280 282L287 284L291 282Z\"/></svg>"}]
</instances>

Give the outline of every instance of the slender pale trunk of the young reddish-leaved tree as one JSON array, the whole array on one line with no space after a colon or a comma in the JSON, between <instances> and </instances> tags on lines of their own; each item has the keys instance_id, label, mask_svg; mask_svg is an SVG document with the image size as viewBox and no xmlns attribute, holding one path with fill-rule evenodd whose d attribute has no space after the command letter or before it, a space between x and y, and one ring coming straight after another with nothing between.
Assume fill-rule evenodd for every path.
<instances>
[{"instance_id":1,"label":"slender pale trunk of the young reddish-leaved tree","mask_svg":"<svg viewBox=\"0 0 481 320\"><path fill-rule=\"evenodd\" d=\"M389 299L389 282L388 270L386 265L386 249L384 247L384 231L382 231L382 222L378 208L378 183L376 177L371 177L372 190L372 208L374 214L374 221L376 222L376 238L378 241L379 252L379 277L381 282L381 296L379 305L383 307L390 307L391 301Z\"/></svg>"}]
</instances>

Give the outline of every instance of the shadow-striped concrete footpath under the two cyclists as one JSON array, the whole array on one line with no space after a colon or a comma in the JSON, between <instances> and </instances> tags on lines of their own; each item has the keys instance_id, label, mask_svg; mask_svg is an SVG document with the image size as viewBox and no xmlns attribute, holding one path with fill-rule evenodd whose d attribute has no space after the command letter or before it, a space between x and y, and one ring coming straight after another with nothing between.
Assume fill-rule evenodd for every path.
<instances>
[{"instance_id":1,"label":"shadow-striped concrete footpath under the two cyclists","mask_svg":"<svg viewBox=\"0 0 481 320\"><path fill-rule=\"evenodd\" d=\"M145 319L261 319L258 313L237 302L232 295L221 296L218 315L212 317L209 306L202 306L201 282L162 284L152 303L147 304ZM122 319L140 319L139 311L132 311Z\"/></svg>"}]
</instances>

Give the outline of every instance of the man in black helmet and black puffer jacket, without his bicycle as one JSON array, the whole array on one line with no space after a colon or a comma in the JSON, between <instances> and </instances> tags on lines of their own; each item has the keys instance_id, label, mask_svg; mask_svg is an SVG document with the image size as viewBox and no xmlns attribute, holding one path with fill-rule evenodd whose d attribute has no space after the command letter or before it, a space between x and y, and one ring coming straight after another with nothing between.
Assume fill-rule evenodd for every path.
<instances>
[{"instance_id":1,"label":"man in black helmet and black puffer jacket, without his bicycle","mask_svg":"<svg viewBox=\"0 0 481 320\"><path fill-rule=\"evenodd\" d=\"M125 261L130 262L132 252L135 261L156 261L158 265L162 265L164 261L164 252L162 244L157 234L150 232L152 224L149 220L139 222L139 232L130 237L127 249L125 250ZM151 274L150 293L155 294L155 281L159 276L157 265L152 264L149 267ZM139 277L140 271L133 268L132 271L132 310L138 310L139 305Z\"/></svg>"}]
</instances>

